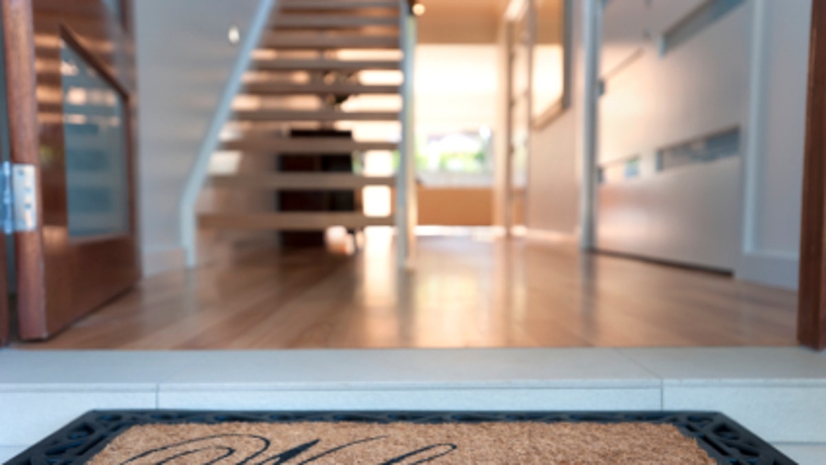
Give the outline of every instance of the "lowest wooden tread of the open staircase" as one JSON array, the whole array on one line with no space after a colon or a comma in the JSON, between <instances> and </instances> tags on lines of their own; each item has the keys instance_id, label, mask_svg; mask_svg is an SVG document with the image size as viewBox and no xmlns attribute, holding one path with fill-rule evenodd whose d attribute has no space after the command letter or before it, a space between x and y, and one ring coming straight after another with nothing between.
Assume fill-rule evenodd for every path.
<instances>
[{"instance_id":1,"label":"lowest wooden tread of the open staircase","mask_svg":"<svg viewBox=\"0 0 826 465\"><path fill-rule=\"evenodd\" d=\"M198 222L203 228L280 231L324 230L333 226L366 228L395 223L393 217L367 217L357 212L202 213Z\"/></svg>"}]
</instances>

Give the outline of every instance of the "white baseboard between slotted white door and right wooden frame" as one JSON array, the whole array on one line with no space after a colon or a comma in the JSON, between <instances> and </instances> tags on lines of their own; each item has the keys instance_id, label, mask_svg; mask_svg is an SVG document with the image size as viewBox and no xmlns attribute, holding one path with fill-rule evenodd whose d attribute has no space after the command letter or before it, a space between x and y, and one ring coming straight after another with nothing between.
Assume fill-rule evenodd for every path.
<instances>
[{"instance_id":1,"label":"white baseboard between slotted white door and right wooden frame","mask_svg":"<svg viewBox=\"0 0 826 465\"><path fill-rule=\"evenodd\" d=\"M750 252L740 256L734 276L738 280L797 290L800 261L793 254Z\"/></svg>"}]
</instances>

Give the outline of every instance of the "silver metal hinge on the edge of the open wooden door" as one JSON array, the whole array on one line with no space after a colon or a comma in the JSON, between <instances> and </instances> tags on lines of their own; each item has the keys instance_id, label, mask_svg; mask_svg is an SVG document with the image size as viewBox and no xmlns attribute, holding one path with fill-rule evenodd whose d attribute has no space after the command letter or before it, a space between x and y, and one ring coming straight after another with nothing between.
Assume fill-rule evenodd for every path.
<instances>
[{"instance_id":1,"label":"silver metal hinge on the edge of the open wooden door","mask_svg":"<svg viewBox=\"0 0 826 465\"><path fill-rule=\"evenodd\" d=\"M35 165L2 163L2 228L6 234L37 229Z\"/></svg>"}]
</instances>

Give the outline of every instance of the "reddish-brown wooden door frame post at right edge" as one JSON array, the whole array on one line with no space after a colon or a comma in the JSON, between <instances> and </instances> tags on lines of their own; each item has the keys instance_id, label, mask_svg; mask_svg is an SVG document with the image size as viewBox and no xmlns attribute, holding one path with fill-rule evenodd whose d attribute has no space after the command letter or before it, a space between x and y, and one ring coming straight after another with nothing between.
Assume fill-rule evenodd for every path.
<instances>
[{"instance_id":1,"label":"reddish-brown wooden door frame post at right edge","mask_svg":"<svg viewBox=\"0 0 826 465\"><path fill-rule=\"evenodd\" d=\"M826 348L826 2L813 0L800 220L797 338Z\"/></svg>"}]
</instances>

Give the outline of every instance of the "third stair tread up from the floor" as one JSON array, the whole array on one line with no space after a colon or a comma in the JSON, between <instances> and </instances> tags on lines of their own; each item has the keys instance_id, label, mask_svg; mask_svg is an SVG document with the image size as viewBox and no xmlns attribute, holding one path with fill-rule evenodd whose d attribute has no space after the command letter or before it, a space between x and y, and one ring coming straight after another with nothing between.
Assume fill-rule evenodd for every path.
<instances>
[{"instance_id":1,"label":"third stair tread up from the floor","mask_svg":"<svg viewBox=\"0 0 826 465\"><path fill-rule=\"evenodd\" d=\"M241 137L224 141L222 147L230 151L322 155L354 151L392 151L398 148L398 144L384 141L354 141L349 138L337 140L329 137Z\"/></svg>"}]
</instances>

